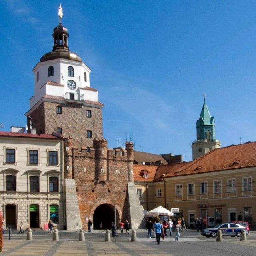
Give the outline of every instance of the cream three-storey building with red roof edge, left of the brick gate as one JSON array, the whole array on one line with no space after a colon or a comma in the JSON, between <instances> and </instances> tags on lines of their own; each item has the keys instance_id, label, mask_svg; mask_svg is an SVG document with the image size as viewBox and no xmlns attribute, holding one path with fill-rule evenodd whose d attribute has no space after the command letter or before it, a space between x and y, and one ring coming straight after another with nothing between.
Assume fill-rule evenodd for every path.
<instances>
[{"instance_id":1,"label":"cream three-storey building with red roof edge, left of the brick gate","mask_svg":"<svg viewBox=\"0 0 256 256\"><path fill-rule=\"evenodd\" d=\"M0 206L6 227L63 229L62 139L46 134L0 132Z\"/></svg>"}]
</instances>

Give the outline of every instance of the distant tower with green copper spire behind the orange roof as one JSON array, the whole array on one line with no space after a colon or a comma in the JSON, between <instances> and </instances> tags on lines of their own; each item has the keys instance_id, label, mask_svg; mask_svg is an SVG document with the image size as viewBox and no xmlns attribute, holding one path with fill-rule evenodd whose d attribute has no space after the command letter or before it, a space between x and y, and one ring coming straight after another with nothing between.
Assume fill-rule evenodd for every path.
<instances>
[{"instance_id":1,"label":"distant tower with green copper spire behind the orange roof","mask_svg":"<svg viewBox=\"0 0 256 256\"><path fill-rule=\"evenodd\" d=\"M192 142L193 160L207 152L220 148L220 141L215 138L215 121L205 101L199 119L196 121L196 140Z\"/></svg>"}]
</instances>

